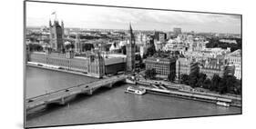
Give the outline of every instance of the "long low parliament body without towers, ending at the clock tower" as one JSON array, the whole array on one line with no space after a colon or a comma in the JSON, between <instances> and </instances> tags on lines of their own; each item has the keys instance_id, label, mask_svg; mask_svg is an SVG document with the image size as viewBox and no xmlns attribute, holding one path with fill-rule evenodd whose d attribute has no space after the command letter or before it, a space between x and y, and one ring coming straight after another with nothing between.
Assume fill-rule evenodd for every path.
<instances>
[{"instance_id":1,"label":"long low parliament body without towers, ending at the clock tower","mask_svg":"<svg viewBox=\"0 0 256 129\"><path fill-rule=\"evenodd\" d=\"M47 51L27 53L26 60L46 65L56 65L61 68L92 74L102 77L105 74L117 74L126 69L126 58L108 57L104 58L99 53L87 56L75 56L74 51L68 50L66 54Z\"/></svg>"}]
</instances>

